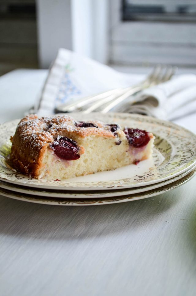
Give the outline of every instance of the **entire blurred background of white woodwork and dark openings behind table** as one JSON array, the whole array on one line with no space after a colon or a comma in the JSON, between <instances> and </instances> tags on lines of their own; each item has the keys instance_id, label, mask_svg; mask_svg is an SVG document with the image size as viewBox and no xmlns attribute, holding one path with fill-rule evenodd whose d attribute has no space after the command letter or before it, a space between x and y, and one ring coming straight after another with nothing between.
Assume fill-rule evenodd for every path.
<instances>
[{"instance_id":1,"label":"entire blurred background of white woodwork and dark openings behind table","mask_svg":"<svg viewBox=\"0 0 196 296\"><path fill-rule=\"evenodd\" d=\"M0 75L47 69L59 47L125 72L195 72L196 0L0 0L0 16Z\"/></svg>"}]
</instances>

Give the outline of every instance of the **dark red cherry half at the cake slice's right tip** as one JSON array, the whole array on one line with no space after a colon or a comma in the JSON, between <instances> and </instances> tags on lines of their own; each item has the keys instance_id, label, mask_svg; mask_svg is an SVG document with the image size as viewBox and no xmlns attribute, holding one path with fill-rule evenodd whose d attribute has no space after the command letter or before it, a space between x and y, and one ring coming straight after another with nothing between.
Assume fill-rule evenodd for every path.
<instances>
[{"instance_id":1,"label":"dark red cherry half at the cake slice's right tip","mask_svg":"<svg viewBox=\"0 0 196 296\"><path fill-rule=\"evenodd\" d=\"M138 128L125 128L124 133L130 145L140 148L148 144L150 137L147 131L142 131Z\"/></svg>"}]
</instances>

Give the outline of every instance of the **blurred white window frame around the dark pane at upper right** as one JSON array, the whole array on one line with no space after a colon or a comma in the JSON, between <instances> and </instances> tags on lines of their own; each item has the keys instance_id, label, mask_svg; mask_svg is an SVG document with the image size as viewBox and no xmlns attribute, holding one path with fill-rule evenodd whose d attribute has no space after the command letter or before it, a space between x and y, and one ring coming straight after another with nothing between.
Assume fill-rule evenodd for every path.
<instances>
[{"instance_id":1,"label":"blurred white window frame around the dark pane at upper right","mask_svg":"<svg viewBox=\"0 0 196 296\"><path fill-rule=\"evenodd\" d=\"M121 0L109 3L111 63L195 65L196 24L123 22Z\"/></svg>"}]
</instances>

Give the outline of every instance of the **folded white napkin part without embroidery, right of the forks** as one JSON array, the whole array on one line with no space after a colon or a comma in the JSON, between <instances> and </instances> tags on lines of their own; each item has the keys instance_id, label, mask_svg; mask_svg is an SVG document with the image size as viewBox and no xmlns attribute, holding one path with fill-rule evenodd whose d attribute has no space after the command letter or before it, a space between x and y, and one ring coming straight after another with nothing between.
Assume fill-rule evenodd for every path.
<instances>
[{"instance_id":1,"label":"folded white napkin part without embroidery, right of the forks","mask_svg":"<svg viewBox=\"0 0 196 296\"><path fill-rule=\"evenodd\" d=\"M168 82L150 87L126 102L123 112L141 113L174 120L196 111L196 75L179 75Z\"/></svg>"}]
</instances>

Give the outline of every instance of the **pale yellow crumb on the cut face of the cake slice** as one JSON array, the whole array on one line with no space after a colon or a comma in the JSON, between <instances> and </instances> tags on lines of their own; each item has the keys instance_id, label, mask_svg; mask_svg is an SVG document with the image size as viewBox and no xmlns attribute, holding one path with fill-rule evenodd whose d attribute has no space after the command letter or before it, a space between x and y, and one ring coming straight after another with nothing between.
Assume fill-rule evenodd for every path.
<instances>
[{"instance_id":1,"label":"pale yellow crumb on the cut face of the cake slice","mask_svg":"<svg viewBox=\"0 0 196 296\"><path fill-rule=\"evenodd\" d=\"M152 134L151 134L152 135ZM42 161L39 178L62 180L75 176L84 176L100 171L116 169L151 156L153 136L149 143L143 147L130 146L124 135L120 137L120 145L116 145L116 139L91 135L78 138L77 144L85 149L85 153L77 160L64 160L56 156L48 146Z\"/></svg>"}]
</instances>

